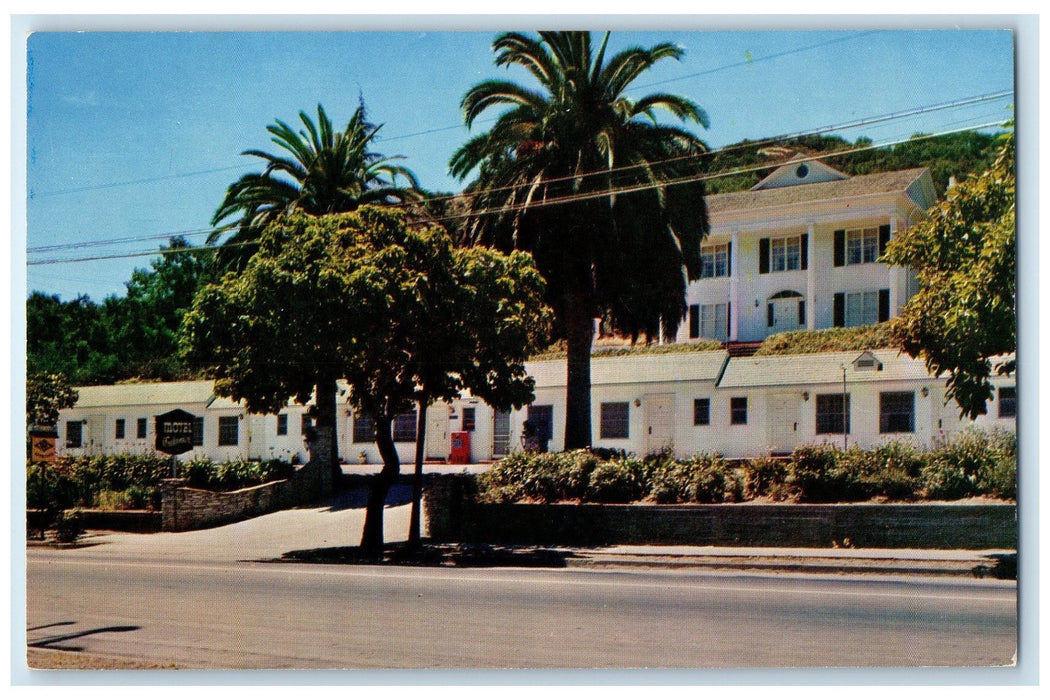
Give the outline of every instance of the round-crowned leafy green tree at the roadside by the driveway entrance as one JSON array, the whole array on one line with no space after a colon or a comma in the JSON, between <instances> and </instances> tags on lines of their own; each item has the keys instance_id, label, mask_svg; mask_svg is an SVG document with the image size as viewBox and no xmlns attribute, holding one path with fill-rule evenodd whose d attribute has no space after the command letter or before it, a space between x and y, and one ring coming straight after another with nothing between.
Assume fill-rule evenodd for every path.
<instances>
[{"instance_id":1,"label":"round-crowned leafy green tree at the roadside by the driveway entrance","mask_svg":"<svg viewBox=\"0 0 1050 700\"><path fill-rule=\"evenodd\" d=\"M463 388L498 406L531 400L523 362L545 331L541 292L528 255L455 249L443 230L410 227L403 214L292 213L264 231L243 272L200 292L185 353L216 379L217 394L249 410L314 396L317 426L333 436L333 468L336 380L346 381L346 401L372 420L383 461L361 537L376 554L400 473L394 419Z\"/></svg>"}]
</instances>

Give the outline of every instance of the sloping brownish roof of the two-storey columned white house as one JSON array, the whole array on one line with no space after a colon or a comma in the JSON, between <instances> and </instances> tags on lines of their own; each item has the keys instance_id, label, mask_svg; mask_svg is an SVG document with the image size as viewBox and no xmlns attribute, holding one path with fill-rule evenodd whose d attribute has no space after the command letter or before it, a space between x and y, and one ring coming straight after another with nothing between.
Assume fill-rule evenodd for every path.
<instances>
[{"instance_id":1,"label":"sloping brownish roof of the two-storey columned white house","mask_svg":"<svg viewBox=\"0 0 1050 700\"><path fill-rule=\"evenodd\" d=\"M925 176L927 183L920 181ZM727 192L705 197L708 213L712 217L731 212L751 209L800 205L808 201L846 199L879 194L906 194L922 208L931 207L932 178L928 168L911 168L879 172L870 175L855 175L846 179L836 179L794 187L773 187L748 192Z\"/></svg>"}]
</instances>

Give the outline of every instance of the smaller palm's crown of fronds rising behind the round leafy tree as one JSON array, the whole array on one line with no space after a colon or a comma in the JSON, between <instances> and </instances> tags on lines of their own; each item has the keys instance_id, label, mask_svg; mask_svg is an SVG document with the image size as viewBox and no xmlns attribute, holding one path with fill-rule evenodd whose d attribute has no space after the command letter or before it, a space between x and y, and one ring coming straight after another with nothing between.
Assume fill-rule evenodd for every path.
<instances>
[{"instance_id":1,"label":"smaller palm's crown of fronds rising behind the round leafy tree","mask_svg":"<svg viewBox=\"0 0 1050 700\"><path fill-rule=\"evenodd\" d=\"M298 132L280 120L267 127L273 143L290 156L257 150L242 153L262 158L266 169L248 173L230 185L215 211L212 226L227 222L211 233L208 242L214 243L224 233L234 231L218 252L224 267L244 268L255 252L252 243L262 229L287 212L300 210L319 216L354 211L362 205L402 204L419 197L418 183L410 170L395 165L395 158L369 150L379 127L366 121L363 104L341 132L333 130L321 105L317 105L316 125L306 112L300 111L299 119L306 129ZM398 177L403 177L407 187L399 186Z\"/></svg>"}]
</instances>

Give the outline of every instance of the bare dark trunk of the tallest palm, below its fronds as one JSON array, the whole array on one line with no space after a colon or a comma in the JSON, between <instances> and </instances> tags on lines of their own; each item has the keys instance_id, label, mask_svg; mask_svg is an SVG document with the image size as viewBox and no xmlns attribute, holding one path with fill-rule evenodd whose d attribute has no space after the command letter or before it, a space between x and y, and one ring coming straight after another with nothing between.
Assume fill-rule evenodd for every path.
<instances>
[{"instance_id":1,"label":"bare dark trunk of the tallest palm, below its fronds","mask_svg":"<svg viewBox=\"0 0 1050 700\"><path fill-rule=\"evenodd\" d=\"M565 305L567 349L565 389L565 446L580 449L591 445L590 353L594 319L590 295L570 293Z\"/></svg>"}]
</instances>

